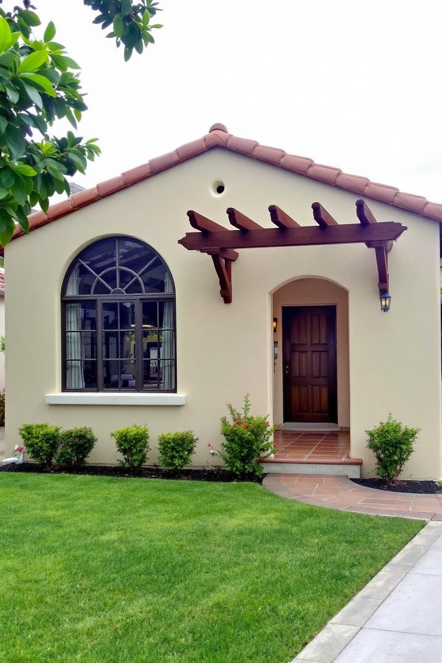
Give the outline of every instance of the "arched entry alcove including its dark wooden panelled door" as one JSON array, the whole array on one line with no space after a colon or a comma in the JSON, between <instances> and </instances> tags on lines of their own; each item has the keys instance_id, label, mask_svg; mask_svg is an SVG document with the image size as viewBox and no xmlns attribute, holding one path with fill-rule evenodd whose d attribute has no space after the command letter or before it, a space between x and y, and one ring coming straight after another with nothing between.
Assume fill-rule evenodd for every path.
<instances>
[{"instance_id":1,"label":"arched entry alcove including its dark wooden panelled door","mask_svg":"<svg viewBox=\"0 0 442 663\"><path fill-rule=\"evenodd\" d=\"M299 278L272 295L274 420L350 426L348 292Z\"/></svg>"}]
</instances>

